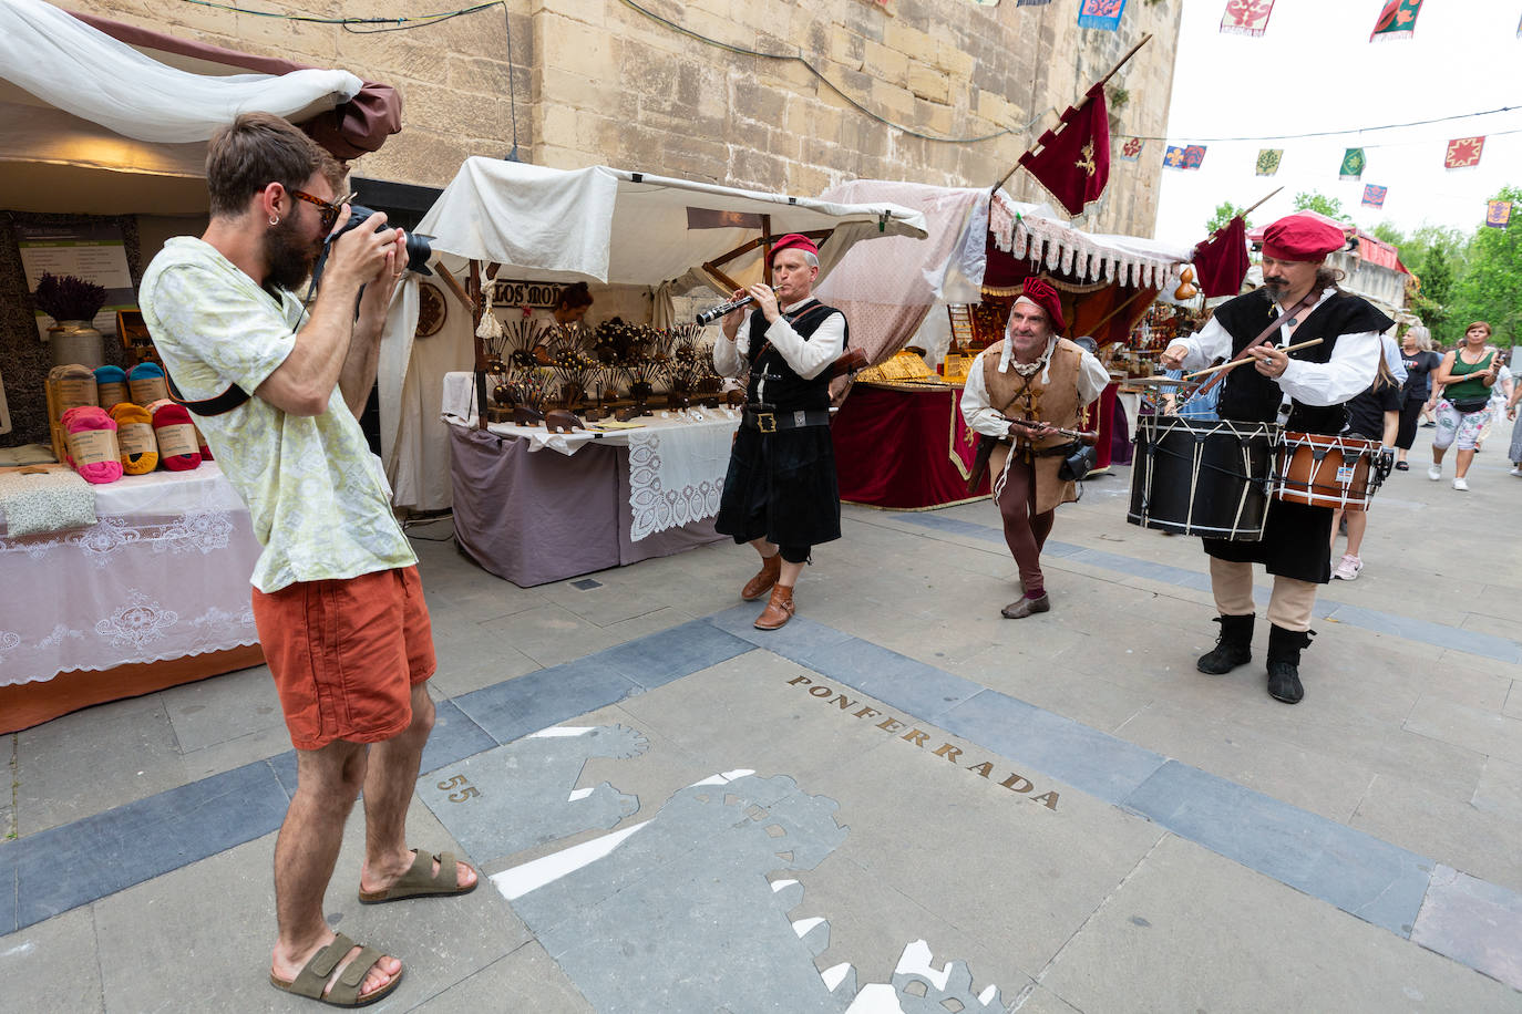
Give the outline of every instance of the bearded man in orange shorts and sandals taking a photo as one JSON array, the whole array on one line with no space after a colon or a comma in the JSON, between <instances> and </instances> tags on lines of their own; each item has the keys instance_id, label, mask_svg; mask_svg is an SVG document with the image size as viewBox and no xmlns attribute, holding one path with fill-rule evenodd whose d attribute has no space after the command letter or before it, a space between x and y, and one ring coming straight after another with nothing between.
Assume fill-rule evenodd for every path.
<instances>
[{"instance_id":1,"label":"bearded man in orange shorts and sandals taking a photo","mask_svg":"<svg viewBox=\"0 0 1522 1014\"><path fill-rule=\"evenodd\" d=\"M434 645L417 558L355 417L412 251L384 214L345 228L342 178L291 123L237 117L207 149L210 225L164 245L140 303L177 397L201 417L263 546L253 611L298 777L275 842L269 979L356 1006L402 979L400 961L356 947L324 920L359 791L362 903L463 894L476 874L447 853L406 847L406 806L434 724L425 683ZM320 254L321 290L307 313L291 289Z\"/></svg>"}]
</instances>

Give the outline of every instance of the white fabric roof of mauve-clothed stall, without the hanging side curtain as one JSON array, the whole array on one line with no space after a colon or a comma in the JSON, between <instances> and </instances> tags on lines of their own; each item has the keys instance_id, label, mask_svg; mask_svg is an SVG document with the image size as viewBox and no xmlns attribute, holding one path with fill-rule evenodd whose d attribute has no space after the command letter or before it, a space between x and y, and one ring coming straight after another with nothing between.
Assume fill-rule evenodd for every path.
<instances>
[{"instance_id":1,"label":"white fabric roof of mauve-clothed stall, without the hanging side curtain","mask_svg":"<svg viewBox=\"0 0 1522 1014\"><path fill-rule=\"evenodd\" d=\"M819 251L820 275L858 240L925 236L921 213L887 202L837 204L607 166L543 169L482 157L466 160L417 231L440 254L502 265L514 278L654 289L756 239L763 220L773 237L834 230ZM758 261L752 254L737 269Z\"/></svg>"}]
</instances>

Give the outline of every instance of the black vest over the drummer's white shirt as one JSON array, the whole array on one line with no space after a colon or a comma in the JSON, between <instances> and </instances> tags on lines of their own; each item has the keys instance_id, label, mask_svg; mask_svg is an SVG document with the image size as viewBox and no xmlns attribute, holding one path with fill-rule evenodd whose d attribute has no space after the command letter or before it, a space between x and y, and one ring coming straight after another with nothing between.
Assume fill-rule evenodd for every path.
<instances>
[{"instance_id":1,"label":"black vest over the drummer's white shirt","mask_svg":"<svg viewBox=\"0 0 1522 1014\"><path fill-rule=\"evenodd\" d=\"M1278 310L1266 289L1221 304L1215 316L1231 336L1231 356L1240 353L1277 318ZM1332 359L1332 350L1336 348L1339 334L1387 331L1391 327L1394 327L1394 321L1370 303L1345 292L1335 292L1326 303L1310 310L1291 339L1291 344L1298 345L1320 337L1321 344L1289 353L1289 357L1324 363ZM1278 418L1278 406L1285 395L1277 383L1253 366L1237 366L1227 374L1221 385L1221 404L1218 406L1221 418L1237 423L1272 423ZM1341 433L1345 417L1341 404L1320 406L1291 401L1285 429L1303 433Z\"/></svg>"}]
</instances>

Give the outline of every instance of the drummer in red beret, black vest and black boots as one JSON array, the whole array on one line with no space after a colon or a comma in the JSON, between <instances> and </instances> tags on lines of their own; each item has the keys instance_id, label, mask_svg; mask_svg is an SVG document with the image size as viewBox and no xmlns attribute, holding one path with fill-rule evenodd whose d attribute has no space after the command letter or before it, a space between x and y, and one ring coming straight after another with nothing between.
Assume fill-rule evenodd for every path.
<instances>
[{"instance_id":1,"label":"drummer in red beret, black vest and black boots","mask_svg":"<svg viewBox=\"0 0 1522 1014\"><path fill-rule=\"evenodd\" d=\"M1313 214L1291 214L1263 234L1263 287L1224 303L1195 336L1163 353L1164 369L1196 369L1231 359L1274 321L1277 333L1253 350L1256 360L1227 372L1219 414L1239 423L1278 423L1286 430L1335 435L1345 401L1365 391L1383 356L1380 334L1394 321L1342 292L1342 272L1326 265L1347 246L1342 228ZM1321 339L1318 345L1283 351ZM1300 652L1310 643L1317 585L1332 579L1332 508L1272 500L1262 541L1207 538L1210 587L1221 616L1216 648L1196 663L1227 673L1251 661L1253 564L1274 575L1268 604L1268 693L1285 704L1304 696Z\"/></svg>"}]
</instances>

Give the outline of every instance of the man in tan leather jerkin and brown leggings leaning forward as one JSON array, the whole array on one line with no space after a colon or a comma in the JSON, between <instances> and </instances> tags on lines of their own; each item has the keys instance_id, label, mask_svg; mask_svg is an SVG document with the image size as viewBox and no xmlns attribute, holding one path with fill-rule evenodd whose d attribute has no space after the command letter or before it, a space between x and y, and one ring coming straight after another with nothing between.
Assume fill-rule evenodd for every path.
<instances>
[{"instance_id":1,"label":"man in tan leather jerkin and brown leggings leaning forward","mask_svg":"<svg viewBox=\"0 0 1522 1014\"><path fill-rule=\"evenodd\" d=\"M1093 354L1058 336L1062 327L1056 290L1027 278L1011 307L1005 337L979 353L962 391L962 418L979 433L979 461L992 476L1005 543L1020 569L1023 596L1001 610L1012 620L1050 611L1041 549L1056 506L1078 500L1075 483L1058 474L1073 452L1073 438L1052 429L1076 429L1084 407L1110 382ZM1030 430L1011 420L1047 429Z\"/></svg>"}]
</instances>

